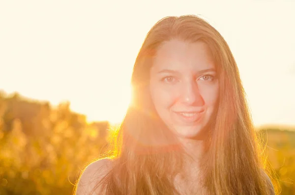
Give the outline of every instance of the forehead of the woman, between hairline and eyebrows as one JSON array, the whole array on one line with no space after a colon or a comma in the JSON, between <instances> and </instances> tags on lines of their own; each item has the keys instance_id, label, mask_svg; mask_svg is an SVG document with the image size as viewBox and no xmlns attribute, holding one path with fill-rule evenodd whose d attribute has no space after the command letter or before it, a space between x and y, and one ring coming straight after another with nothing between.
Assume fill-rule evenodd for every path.
<instances>
[{"instance_id":1,"label":"forehead of the woman, between hairline and eyebrows","mask_svg":"<svg viewBox=\"0 0 295 195\"><path fill-rule=\"evenodd\" d=\"M195 72L214 68L214 60L204 42L185 42L177 39L164 42L153 59L153 70L173 69Z\"/></svg>"}]
</instances>

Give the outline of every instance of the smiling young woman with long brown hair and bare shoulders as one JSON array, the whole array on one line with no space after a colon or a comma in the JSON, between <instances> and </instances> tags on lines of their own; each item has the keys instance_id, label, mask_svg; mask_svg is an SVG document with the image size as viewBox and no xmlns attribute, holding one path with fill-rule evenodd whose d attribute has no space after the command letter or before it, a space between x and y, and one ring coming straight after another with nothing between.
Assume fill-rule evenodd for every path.
<instances>
[{"instance_id":1,"label":"smiling young woman with long brown hair and bare shoulders","mask_svg":"<svg viewBox=\"0 0 295 195\"><path fill-rule=\"evenodd\" d=\"M166 17L136 58L114 156L77 195L274 195L236 61L203 19Z\"/></svg>"}]
</instances>

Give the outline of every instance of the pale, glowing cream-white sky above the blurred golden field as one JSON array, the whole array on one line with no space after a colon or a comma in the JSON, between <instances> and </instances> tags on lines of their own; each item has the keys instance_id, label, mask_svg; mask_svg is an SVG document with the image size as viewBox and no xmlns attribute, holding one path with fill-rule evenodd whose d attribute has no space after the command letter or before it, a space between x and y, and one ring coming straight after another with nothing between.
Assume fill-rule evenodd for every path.
<instances>
[{"instance_id":1,"label":"pale, glowing cream-white sky above the blurred golden field","mask_svg":"<svg viewBox=\"0 0 295 195\"><path fill-rule=\"evenodd\" d=\"M118 122L148 30L196 14L224 36L256 125L295 125L294 0L2 0L0 89Z\"/></svg>"}]
</instances>

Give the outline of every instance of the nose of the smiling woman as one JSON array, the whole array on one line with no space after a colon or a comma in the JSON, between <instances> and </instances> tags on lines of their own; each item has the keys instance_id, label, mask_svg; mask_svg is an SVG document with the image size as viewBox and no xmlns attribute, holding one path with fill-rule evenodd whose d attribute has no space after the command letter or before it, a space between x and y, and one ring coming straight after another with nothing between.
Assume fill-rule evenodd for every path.
<instances>
[{"instance_id":1,"label":"nose of the smiling woman","mask_svg":"<svg viewBox=\"0 0 295 195\"><path fill-rule=\"evenodd\" d=\"M183 85L181 100L187 106L202 106L203 97L196 82L186 82Z\"/></svg>"}]
</instances>

